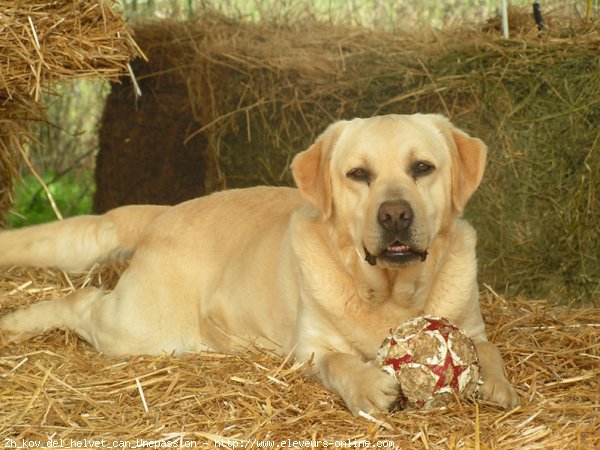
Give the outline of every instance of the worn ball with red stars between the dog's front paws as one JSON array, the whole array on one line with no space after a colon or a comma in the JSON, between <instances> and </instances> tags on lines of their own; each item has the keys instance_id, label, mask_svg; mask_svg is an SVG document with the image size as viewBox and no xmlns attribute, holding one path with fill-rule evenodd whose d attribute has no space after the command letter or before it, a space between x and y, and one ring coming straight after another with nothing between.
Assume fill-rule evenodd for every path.
<instances>
[{"instance_id":1,"label":"worn ball with red stars between the dog's front paws","mask_svg":"<svg viewBox=\"0 0 600 450\"><path fill-rule=\"evenodd\" d=\"M464 331L441 317L422 316L390 330L377 363L400 385L401 408L440 407L477 394L477 351Z\"/></svg>"}]
</instances>

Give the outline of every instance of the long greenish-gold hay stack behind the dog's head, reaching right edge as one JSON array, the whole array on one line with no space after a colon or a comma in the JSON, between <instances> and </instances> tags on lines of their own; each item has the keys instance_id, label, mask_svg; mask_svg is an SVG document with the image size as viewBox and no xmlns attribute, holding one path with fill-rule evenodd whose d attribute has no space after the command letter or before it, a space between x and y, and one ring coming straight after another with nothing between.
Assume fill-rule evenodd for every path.
<instances>
[{"instance_id":1,"label":"long greenish-gold hay stack behind the dog's head, reaching right edge","mask_svg":"<svg viewBox=\"0 0 600 450\"><path fill-rule=\"evenodd\" d=\"M483 280L511 293L597 299L599 27L540 35L527 21L526 33L503 40L493 24L406 35L206 14L137 36L187 98L183 120L196 127L187 140L208 143L207 191L290 184L293 155L339 118L443 113L490 147L468 211Z\"/></svg>"}]
</instances>

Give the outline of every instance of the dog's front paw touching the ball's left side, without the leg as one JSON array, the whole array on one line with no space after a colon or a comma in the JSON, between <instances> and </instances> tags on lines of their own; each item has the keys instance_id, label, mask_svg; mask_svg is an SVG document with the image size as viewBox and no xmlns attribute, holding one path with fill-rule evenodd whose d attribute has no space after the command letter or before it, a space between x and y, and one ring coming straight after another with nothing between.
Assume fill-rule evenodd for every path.
<instances>
[{"instance_id":1,"label":"dog's front paw touching the ball's left side, without the leg","mask_svg":"<svg viewBox=\"0 0 600 450\"><path fill-rule=\"evenodd\" d=\"M348 409L358 415L388 412L397 402L400 386L394 377L378 367L365 365L355 373L352 385L342 393Z\"/></svg>"}]
</instances>

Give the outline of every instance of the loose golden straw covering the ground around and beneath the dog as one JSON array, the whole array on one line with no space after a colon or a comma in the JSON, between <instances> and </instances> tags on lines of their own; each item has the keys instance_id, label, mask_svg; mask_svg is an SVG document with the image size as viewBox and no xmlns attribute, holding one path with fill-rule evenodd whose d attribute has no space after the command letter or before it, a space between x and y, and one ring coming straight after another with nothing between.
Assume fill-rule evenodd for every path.
<instances>
[{"instance_id":1,"label":"loose golden straw covering the ground around and beneath the dog","mask_svg":"<svg viewBox=\"0 0 600 450\"><path fill-rule=\"evenodd\" d=\"M73 286L110 287L120 270L100 267L70 277L4 270L0 314L64 295ZM482 303L489 335L522 396L522 406L513 411L460 401L442 410L381 415L377 423L353 417L337 397L303 377L302 362L255 347L244 355L107 358L72 333L53 331L0 347L0 442L88 448L368 443L399 449L598 448L600 309L508 299L490 288Z\"/></svg>"}]
</instances>

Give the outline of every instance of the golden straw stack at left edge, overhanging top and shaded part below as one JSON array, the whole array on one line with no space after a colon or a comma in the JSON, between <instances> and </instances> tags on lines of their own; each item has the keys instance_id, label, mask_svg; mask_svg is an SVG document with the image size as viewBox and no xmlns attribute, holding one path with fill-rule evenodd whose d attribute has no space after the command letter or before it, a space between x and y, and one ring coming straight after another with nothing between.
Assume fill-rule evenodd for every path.
<instances>
[{"instance_id":1,"label":"golden straw stack at left edge, overhanging top and shaded part below","mask_svg":"<svg viewBox=\"0 0 600 450\"><path fill-rule=\"evenodd\" d=\"M0 215L12 200L40 95L75 78L118 79L140 52L112 0L0 1Z\"/></svg>"}]
</instances>

